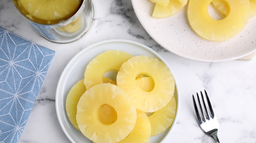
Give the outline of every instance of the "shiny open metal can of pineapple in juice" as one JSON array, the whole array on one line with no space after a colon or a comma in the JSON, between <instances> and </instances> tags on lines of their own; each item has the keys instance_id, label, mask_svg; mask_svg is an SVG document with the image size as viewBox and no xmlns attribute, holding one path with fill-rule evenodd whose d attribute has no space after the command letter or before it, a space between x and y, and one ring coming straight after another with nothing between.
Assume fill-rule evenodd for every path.
<instances>
[{"instance_id":1,"label":"shiny open metal can of pineapple in juice","mask_svg":"<svg viewBox=\"0 0 256 143\"><path fill-rule=\"evenodd\" d=\"M88 32L93 23L94 7L91 0L80 0L77 9L74 8L74 11L71 11L66 17L56 20L42 20L34 17L28 12L29 10L24 10L19 1L12 0L15 8L28 20L39 35L54 43L70 43L80 39ZM44 10L47 11L47 9ZM68 11L65 8L61 10ZM41 17L47 17L42 12L39 14Z\"/></svg>"}]
</instances>

